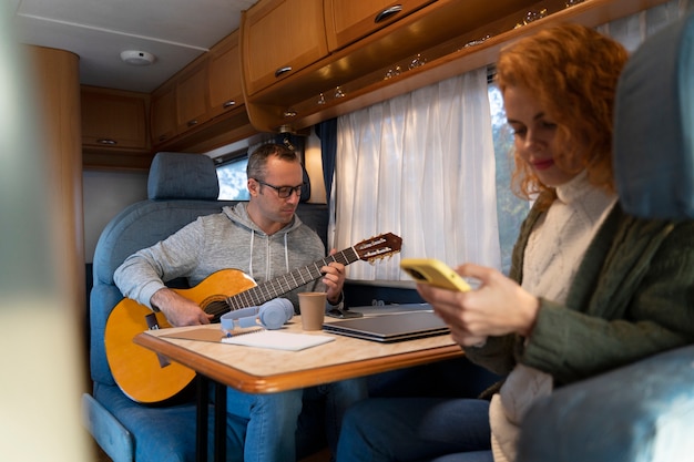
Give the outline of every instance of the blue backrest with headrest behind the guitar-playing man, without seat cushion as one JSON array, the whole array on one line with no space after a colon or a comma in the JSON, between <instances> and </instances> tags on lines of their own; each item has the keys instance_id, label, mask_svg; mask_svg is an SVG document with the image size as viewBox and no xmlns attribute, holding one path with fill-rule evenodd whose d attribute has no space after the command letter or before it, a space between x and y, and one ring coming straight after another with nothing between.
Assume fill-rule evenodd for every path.
<instances>
[{"instance_id":1,"label":"blue backrest with headrest behind the guitar-playing man, without seat cushion","mask_svg":"<svg viewBox=\"0 0 694 462\"><path fill-rule=\"evenodd\" d=\"M104 348L106 320L123 295L113 273L127 256L165 239L201 215L218 213L235 201L217 201L214 161L205 155L157 153L147 177L147 199L119 213L103 229L93 258L90 292L90 369L92 380L115 384ZM297 215L326 242L324 204L300 204Z\"/></svg>"}]
</instances>

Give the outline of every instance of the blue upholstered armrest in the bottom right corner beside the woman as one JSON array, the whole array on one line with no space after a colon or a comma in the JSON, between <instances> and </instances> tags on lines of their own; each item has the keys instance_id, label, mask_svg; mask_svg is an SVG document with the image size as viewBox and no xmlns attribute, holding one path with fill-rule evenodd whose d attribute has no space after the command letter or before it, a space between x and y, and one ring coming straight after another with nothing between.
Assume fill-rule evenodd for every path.
<instances>
[{"instance_id":1,"label":"blue upholstered armrest in the bottom right corner beside the woman","mask_svg":"<svg viewBox=\"0 0 694 462\"><path fill-rule=\"evenodd\" d=\"M694 346L558 389L523 421L518 462L688 460Z\"/></svg>"}]
</instances>

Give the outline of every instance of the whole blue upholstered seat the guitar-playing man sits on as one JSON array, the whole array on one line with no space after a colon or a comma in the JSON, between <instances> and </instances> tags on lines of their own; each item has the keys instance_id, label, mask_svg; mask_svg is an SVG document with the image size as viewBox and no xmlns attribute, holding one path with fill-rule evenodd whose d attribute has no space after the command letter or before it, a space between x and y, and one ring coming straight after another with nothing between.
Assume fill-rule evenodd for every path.
<instances>
[{"instance_id":1,"label":"whole blue upholstered seat the guitar-playing man sits on","mask_svg":"<svg viewBox=\"0 0 694 462\"><path fill-rule=\"evenodd\" d=\"M114 270L132 253L166 238L201 215L233 204L217 201L217 195L218 181L211 158L159 153L149 174L149 198L118 214L96 244L90 294L93 390L83 396L83 410L89 430L114 462L195 461L194 401L151 407L130 400L109 368L104 330L111 310L123 298L113 283ZM327 206L300 204L297 214L325 242Z\"/></svg>"}]
</instances>

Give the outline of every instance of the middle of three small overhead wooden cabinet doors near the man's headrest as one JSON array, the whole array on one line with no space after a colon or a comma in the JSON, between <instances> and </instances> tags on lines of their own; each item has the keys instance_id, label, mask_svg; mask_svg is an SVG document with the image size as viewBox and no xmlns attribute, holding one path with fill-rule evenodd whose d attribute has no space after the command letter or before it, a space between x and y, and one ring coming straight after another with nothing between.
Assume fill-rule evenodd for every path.
<instances>
[{"instance_id":1,"label":"middle of three small overhead wooden cabinet doors near the man's headrest","mask_svg":"<svg viewBox=\"0 0 694 462\"><path fill-rule=\"evenodd\" d=\"M178 133L210 119L210 88L207 60L186 69L176 79L176 113Z\"/></svg>"}]
</instances>

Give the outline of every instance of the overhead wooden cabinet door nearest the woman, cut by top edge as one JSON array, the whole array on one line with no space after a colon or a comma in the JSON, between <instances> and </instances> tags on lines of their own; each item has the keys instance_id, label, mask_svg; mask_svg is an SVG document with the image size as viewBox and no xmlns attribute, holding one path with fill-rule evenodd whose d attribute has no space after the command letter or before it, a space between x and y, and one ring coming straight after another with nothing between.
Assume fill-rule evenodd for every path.
<instances>
[{"instance_id":1,"label":"overhead wooden cabinet door nearest the woman, cut by top edge","mask_svg":"<svg viewBox=\"0 0 694 462\"><path fill-rule=\"evenodd\" d=\"M431 3L433 0L325 0L325 28L330 51Z\"/></svg>"}]
</instances>

